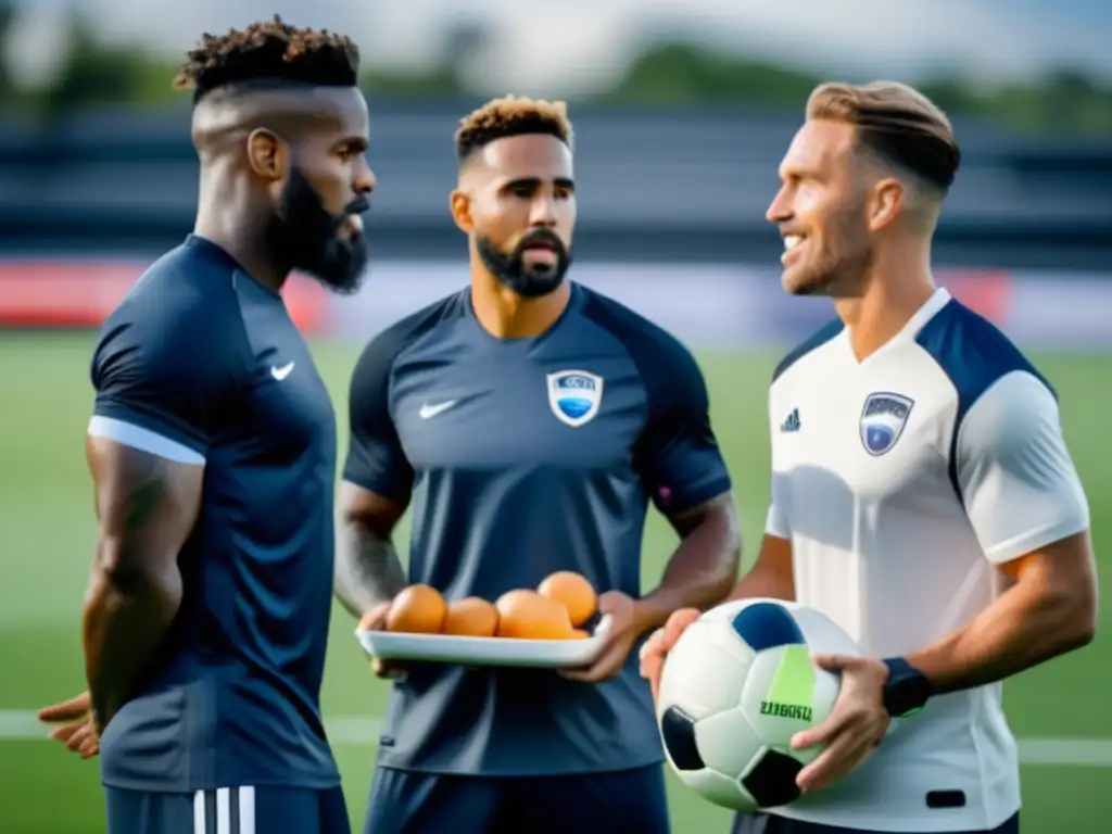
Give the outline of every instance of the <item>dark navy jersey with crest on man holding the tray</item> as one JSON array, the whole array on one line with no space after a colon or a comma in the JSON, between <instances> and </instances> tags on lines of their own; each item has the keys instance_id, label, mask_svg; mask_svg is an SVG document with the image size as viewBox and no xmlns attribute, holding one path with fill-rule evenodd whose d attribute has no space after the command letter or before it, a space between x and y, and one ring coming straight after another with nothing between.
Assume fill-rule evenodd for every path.
<instances>
[{"instance_id":1,"label":"dark navy jersey with crest on man holding the tray","mask_svg":"<svg viewBox=\"0 0 1112 834\"><path fill-rule=\"evenodd\" d=\"M470 291L376 337L355 369L344 477L411 497L409 579L489 600L577 570L641 593L648 504L668 513L729 478L688 351L573 285L533 339L496 339ZM616 771L663 759L636 647L616 677L419 665L394 685L380 763L492 776Z\"/></svg>"}]
</instances>

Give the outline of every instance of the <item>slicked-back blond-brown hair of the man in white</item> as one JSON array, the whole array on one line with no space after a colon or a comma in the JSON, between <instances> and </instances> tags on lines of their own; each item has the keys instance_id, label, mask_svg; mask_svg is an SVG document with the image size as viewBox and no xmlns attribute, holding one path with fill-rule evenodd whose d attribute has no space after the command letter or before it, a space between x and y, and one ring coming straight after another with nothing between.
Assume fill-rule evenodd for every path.
<instances>
[{"instance_id":1,"label":"slicked-back blond-brown hair of the man in white","mask_svg":"<svg viewBox=\"0 0 1112 834\"><path fill-rule=\"evenodd\" d=\"M821 85L807 99L806 116L853 125L862 149L912 175L940 199L961 166L950 119L926 96L897 81Z\"/></svg>"}]
</instances>

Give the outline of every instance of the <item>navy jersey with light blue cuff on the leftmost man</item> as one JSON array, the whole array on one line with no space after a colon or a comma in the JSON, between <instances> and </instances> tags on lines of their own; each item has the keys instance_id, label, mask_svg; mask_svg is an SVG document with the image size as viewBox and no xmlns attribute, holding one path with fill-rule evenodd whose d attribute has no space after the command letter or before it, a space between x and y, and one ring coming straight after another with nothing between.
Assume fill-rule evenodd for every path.
<instances>
[{"instance_id":1,"label":"navy jersey with light blue cuff on the leftmost man","mask_svg":"<svg viewBox=\"0 0 1112 834\"><path fill-rule=\"evenodd\" d=\"M205 463L181 608L106 728L105 784L337 785L319 707L335 415L281 297L190 236L105 324L92 381L90 431Z\"/></svg>"}]
</instances>

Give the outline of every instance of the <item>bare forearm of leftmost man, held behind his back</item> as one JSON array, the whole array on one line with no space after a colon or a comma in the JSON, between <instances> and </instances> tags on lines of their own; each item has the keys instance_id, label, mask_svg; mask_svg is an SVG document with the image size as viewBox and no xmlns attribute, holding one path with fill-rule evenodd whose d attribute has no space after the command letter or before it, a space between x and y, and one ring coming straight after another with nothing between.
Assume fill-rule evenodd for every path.
<instances>
[{"instance_id":1,"label":"bare forearm of leftmost man, held behind his back","mask_svg":"<svg viewBox=\"0 0 1112 834\"><path fill-rule=\"evenodd\" d=\"M98 548L82 622L86 678L102 726L133 697L181 605L176 567L127 572L106 550Z\"/></svg>"}]
</instances>

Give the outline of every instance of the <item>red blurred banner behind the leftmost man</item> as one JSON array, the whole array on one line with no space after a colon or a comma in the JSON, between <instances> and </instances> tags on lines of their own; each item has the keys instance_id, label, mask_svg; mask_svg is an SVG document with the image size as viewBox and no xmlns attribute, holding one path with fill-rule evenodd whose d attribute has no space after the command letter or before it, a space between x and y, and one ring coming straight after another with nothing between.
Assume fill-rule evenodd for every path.
<instances>
[{"instance_id":1,"label":"red blurred banner behind the leftmost man","mask_svg":"<svg viewBox=\"0 0 1112 834\"><path fill-rule=\"evenodd\" d=\"M0 264L0 326L100 327L147 268L135 261L7 261ZM282 290L290 318L316 332L327 320L320 285L291 276Z\"/></svg>"}]
</instances>

